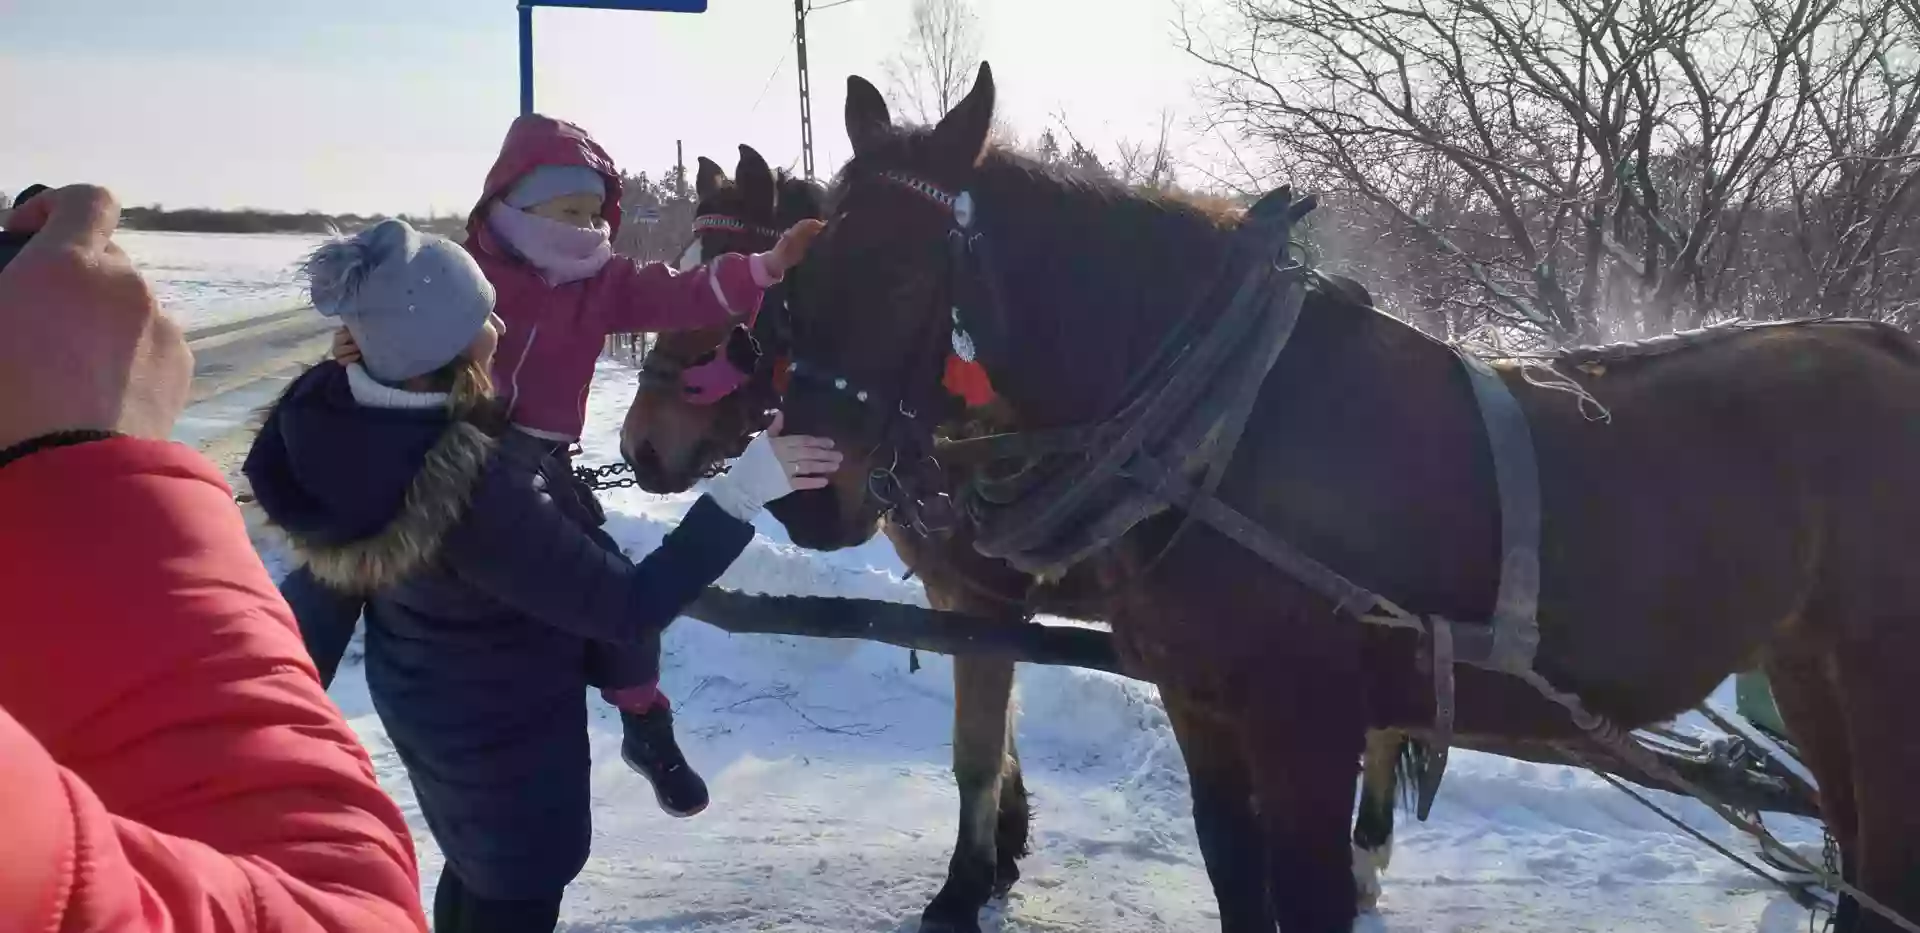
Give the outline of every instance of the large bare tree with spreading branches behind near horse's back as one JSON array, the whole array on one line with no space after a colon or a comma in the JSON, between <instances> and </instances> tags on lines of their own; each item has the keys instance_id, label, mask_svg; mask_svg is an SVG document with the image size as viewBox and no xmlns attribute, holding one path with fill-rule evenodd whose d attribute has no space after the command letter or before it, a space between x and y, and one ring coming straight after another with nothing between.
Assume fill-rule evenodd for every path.
<instances>
[{"instance_id":1,"label":"large bare tree with spreading branches behind near horse's back","mask_svg":"<svg viewBox=\"0 0 1920 933\"><path fill-rule=\"evenodd\" d=\"M1269 169L1448 259L1415 305L1567 342L1711 313L1839 2L1229 0L1187 48Z\"/></svg>"}]
</instances>

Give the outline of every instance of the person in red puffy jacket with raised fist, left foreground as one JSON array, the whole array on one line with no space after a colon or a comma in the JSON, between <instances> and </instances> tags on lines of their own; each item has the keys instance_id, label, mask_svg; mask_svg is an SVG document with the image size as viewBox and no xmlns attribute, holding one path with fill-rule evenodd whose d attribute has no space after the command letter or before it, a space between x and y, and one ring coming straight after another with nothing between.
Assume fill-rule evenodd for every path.
<instances>
[{"instance_id":1,"label":"person in red puffy jacket with raised fist, left foreground","mask_svg":"<svg viewBox=\"0 0 1920 933\"><path fill-rule=\"evenodd\" d=\"M42 194L0 271L0 929L426 931L399 808L219 472L167 443L192 353Z\"/></svg>"}]
</instances>

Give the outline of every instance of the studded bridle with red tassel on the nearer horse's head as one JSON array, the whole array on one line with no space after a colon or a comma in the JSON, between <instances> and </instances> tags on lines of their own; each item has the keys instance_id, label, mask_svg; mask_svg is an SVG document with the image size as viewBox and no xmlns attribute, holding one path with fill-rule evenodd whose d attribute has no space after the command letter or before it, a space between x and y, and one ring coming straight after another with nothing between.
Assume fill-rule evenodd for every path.
<instances>
[{"instance_id":1,"label":"studded bridle with red tassel on the nearer horse's head","mask_svg":"<svg viewBox=\"0 0 1920 933\"><path fill-rule=\"evenodd\" d=\"M964 278L970 275L985 294L991 315L1004 321L1004 307L998 282L987 261L985 234L973 228L975 207L972 192L962 190L952 194L939 184L899 171L879 173L877 179L914 192L947 213L945 298L950 315L929 313L925 330L908 340L908 347L916 347L908 357L914 363L904 369L902 384L893 394L879 392L874 386L849 378L833 367L806 359L799 353L799 347L795 347L787 367L793 382L822 386L833 397L864 413L862 436L876 438L874 447L868 451L868 463L877 465L885 459L885 466L874 466L868 474L868 497L883 513L904 518L902 524L916 534L937 536L950 532L960 520L960 511L948 493L945 466L933 455L933 442L935 428L939 428L947 415L945 411L935 411L935 407L947 409L950 405L941 388L939 367L947 361L948 347L968 363L975 357L973 338L960 323L960 286ZM828 227L828 234L831 234L831 227ZM935 371L927 372L922 361L935 361ZM924 394L918 399L914 399L916 388ZM906 476L902 476L902 468Z\"/></svg>"}]
</instances>

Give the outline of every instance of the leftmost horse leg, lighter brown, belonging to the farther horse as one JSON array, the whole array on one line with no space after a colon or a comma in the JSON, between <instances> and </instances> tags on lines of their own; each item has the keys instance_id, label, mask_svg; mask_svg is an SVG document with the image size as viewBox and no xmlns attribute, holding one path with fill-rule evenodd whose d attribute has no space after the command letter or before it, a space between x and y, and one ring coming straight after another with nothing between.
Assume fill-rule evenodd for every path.
<instances>
[{"instance_id":1,"label":"leftmost horse leg, lighter brown, belonging to the farther horse","mask_svg":"<svg viewBox=\"0 0 1920 933\"><path fill-rule=\"evenodd\" d=\"M1006 822L1002 799L1012 768L1014 662L954 658L954 783L960 787L960 837L954 841L947 883L920 916L924 933L977 933L979 910L998 885L998 829ZM1021 814L1025 812L1021 787ZM1021 816L1021 837L1025 818ZM1008 879L1006 885L1014 881Z\"/></svg>"}]
</instances>

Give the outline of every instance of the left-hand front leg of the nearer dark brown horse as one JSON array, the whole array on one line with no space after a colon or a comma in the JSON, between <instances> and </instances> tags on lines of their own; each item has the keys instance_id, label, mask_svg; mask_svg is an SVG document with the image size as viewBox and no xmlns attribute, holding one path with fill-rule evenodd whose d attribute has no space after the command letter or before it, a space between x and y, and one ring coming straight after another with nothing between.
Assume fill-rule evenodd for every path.
<instances>
[{"instance_id":1,"label":"left-hand front leg of the nearer dark brown horse","mask_svg":"<svg viewBox=\"0 0 1920 933\"><path fill-rule=\"evenodd\" d=\"M1221 933L1273 933L1267 856L1240 735L1213 712L1162 689L1160 703L1187 760L1194 835L1213 883Z\"/></svg>"}]
</instances>

